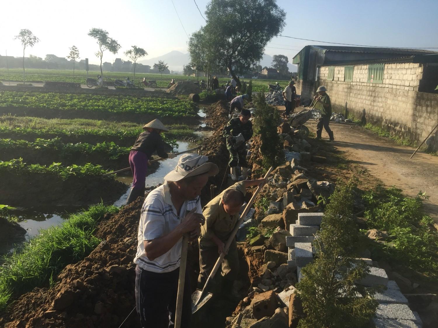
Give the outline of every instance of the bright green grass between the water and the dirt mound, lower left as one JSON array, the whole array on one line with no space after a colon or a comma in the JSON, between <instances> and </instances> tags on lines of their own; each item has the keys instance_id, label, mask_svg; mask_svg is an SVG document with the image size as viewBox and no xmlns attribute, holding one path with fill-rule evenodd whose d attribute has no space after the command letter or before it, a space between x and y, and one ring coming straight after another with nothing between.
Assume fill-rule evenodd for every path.
<instances>
[{"instance_id":1,"label":"bright green grass between the water and the dirt mound, lower left","mask_svg":"<svg viewBox=\"0 0 438 328\"><path fill-rule=\"evenodd\" d=\"M3 258L0 267L0 311L13 297L36 286L53 284L56 275L68 264L85 258L99 244L93 235L105 213L117 213L116 206L102 203L87 211L72 214L58 227L40 230L41 234Z\"/></svg>"}]
</instances>

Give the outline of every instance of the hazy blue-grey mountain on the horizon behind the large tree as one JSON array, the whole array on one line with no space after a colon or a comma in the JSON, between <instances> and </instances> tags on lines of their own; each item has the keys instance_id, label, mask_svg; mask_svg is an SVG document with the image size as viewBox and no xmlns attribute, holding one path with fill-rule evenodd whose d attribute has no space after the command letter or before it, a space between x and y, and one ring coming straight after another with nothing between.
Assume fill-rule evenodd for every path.
<instances>
[{"instance_id":1,"label":"hazy blue-grey mountain on the horizon behind the large tree","mask_svg":"<svg viewBox=\"0 0 438 328\"><path fill-rule=\"evenodd\" d=\"M141 63L143 65L149 65L152 67L154 66L155 63L158 63L159 60L162 60L164 63L169 65L169 70L182 72L183 65L187 65L190 62L190 55L188 53L172 50L171 52L168 52L162 56L158 56L151 59L140 60L138 63ZM260 61L261 67L265 67L265 66L271 67L271 63L272 63L272 56L264 54L263 58ZM292 65L288 63L287 66L289 67L290 72L297 71L296 65Z\"/></svg>"}]
</instances>

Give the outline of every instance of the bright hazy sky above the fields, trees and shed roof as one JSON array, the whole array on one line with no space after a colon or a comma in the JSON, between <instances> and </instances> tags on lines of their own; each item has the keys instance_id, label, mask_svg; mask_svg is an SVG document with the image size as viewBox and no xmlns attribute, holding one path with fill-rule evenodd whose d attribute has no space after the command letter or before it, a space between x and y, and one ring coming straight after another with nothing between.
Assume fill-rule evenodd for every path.
<instances>
[{"instance_id":1,"label":"bright hazy sky above the fields, trees and shed roof","mask_svg":"<svg viewBox=\"0 0 438 328\"><path fill-rule=\"evenodd\" d=\"M283 35L329 42L383 47L438 47L437 0L278 0L286 15ZM173 0L188 35L205 23L193 0ZM202 14L208 0L196 0ZM90 28L103 28L122 46L117 55L104 53L103 60L125 59L123 52L137 45L153 58L179 50L187 52L187 35L171 0L21 0L0 1L0 54L22 56L21 44L13 40L21 28L30 29L40 42L26 49L44 58L67 56L76 45L81 58L98 63ZM257 24L255 21L254 24ZM276 37L268 43L269 55L292 57L308 44L321 44ZM275 49L286 48L286 49ZM438 49L434 49L437 50Z\"/></svg>"}]
</instances>

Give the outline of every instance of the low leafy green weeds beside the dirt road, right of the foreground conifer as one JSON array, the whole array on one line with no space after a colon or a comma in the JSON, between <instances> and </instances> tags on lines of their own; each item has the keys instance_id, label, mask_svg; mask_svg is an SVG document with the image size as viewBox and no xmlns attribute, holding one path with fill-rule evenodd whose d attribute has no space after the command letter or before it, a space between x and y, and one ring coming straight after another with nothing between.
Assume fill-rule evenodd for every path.
<instances>
[{"instance_id":1,"label":"low leafy green weeds beside the dirt road, right of the foreground conifer","mask_svg":"<svg viewBox=\"0 0 438 328\"><path fill-rule=\"evenodd\" d=\"M401 189L377 185L363 198L368 228L385 230L390 235L381 255L437 278L438 232L430 229L433 219L422 210L422 199L427 196L420 192L415 198L406 197Z\"/></svg>"}]
</instances>

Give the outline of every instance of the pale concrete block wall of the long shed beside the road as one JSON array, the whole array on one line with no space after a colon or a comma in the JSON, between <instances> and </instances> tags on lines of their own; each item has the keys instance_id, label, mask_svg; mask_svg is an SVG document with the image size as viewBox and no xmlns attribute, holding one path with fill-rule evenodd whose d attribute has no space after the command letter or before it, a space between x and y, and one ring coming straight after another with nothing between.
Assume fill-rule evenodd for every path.
<instances>
[{"instance_id":1,"label":"pale concrete block wall of the long shed beside the road","mask_svg":"<svg viewBox=\"0 0 438 328\"><path fill-rule=\"evenodd\" d=\"M329 66L321 66L318 85L324 85L334 112L354 116L390 133L420 143L438 122L438 94L419 92L424 66L418 63L385 64L383 82L367 83L368 65L356 65L353 81L344 81L344 66L335 66L332 81ZM438 132L427 140L438 149Z\"/></svg>"}]
</instances>

